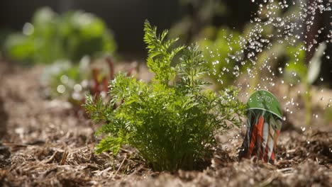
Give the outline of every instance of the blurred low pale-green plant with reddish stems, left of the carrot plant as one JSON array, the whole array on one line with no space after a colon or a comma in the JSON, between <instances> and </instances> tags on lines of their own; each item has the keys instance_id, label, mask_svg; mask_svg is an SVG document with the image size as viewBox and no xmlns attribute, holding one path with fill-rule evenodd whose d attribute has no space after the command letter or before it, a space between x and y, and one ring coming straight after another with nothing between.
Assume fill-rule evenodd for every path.
<instances>
[{"instance_id":1,"label":"blurred low pale-green plant with reddish stems, left of the carrot plant","mask_svg":"<svg viewBox=\"0 0 332 187\"><path fill-rule=\"evenodd\" d=\"M46 67L41 76L45 96L69 101L75 107L82 106L87 94L106 99L112 79L114 63L110 57L91 64L88 56L83 57L79 64L58 60Z\"/></svg>"}]
</instances>

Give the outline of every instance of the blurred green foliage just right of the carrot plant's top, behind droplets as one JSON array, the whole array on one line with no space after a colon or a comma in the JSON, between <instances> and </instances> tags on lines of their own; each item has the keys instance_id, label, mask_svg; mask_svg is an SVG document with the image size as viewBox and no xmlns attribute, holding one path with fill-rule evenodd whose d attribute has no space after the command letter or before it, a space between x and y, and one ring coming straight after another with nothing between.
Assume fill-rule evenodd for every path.
<instances>
[{"instance_id":1,"label":"blurred green foliage just right of the carrot plant's top, behind droplets","mask_svg":"<svg viewBox=\"0 0 332 187\"><path fill-rule=\"evenodd\" d=\"M209 69L208 77L213 81L216 89L233 84L246 65L243 59L240 33L229 28L209 27L202 31L206 38L198 41L203 51L206 68Z\"/></svg>"}]
</instances>

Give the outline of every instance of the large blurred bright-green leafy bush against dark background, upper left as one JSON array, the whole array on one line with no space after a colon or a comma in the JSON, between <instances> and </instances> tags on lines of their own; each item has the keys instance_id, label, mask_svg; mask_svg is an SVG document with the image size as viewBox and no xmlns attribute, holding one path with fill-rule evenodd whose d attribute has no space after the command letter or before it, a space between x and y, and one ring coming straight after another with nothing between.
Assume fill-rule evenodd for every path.
<instances>
[{"instance_id":1,"label":"large blurred bright-green leafy bush against dark background, upper left","mask_svg":"<svg viewBox=\"0 0 332 187\"><path fill-rule=\"evenodd\" d=\"M49 64L55 60L78 62L84 55L112 54L116 43L100 18L83 11L58 15L40 8L22 33L13 33L4 42L4 51L13 60Z\"/></svg>"}]
</instances>

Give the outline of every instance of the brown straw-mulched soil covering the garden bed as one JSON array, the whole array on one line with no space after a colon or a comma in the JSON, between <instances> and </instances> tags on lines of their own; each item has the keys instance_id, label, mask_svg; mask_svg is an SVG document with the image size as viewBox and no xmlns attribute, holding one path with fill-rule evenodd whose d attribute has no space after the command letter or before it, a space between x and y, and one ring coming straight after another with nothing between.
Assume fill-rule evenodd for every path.
<instances>
[{"instance_id":1,"label":"brown straw-mulched soil covering the garden bed","mask_svg":"<svg viewBox=\"0 0 332 187\"><path fill-rule=\"evenodd\" d=\"M98 125L77 117L64 101L43 98L42 71L42 67L16 68L6 71L0 80L0 186L332 184L332 125L315 120L306 130L300 128L304 126L303 110L284 121L275 165L238 161L245 128L216 137L214 158L201 171L152 171L130 147L123 147L116 156L94 154Z\"/></svg>"}]
</instances>

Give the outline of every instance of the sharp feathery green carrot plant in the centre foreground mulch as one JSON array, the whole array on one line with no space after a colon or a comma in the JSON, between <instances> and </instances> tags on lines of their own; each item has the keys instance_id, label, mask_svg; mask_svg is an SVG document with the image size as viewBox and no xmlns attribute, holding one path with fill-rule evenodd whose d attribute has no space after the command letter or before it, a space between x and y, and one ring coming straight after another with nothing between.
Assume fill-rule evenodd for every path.
<instances>
[{"instance_id":1,"label":"sharp feathery green carrot plant in the centre foreground mulch","mask_svg":"<svg viewBox=\"0 0 332 187\"><path fill-rule=\"evenodd\" d=\"M208 83L201 77L208 69L197 45L174 47L177 39L165 40L167 30L157 35L148 21L144 30L153 81L121 73L110 83L111 102L87 96L90 117L104 124L96 132L104 135L96 152L117 154L121 145L130 145L155 170L193 169L211 156L214 135L230 129L228 122L240 125L245 105L234 89L219 94L205 89Z\"/></svg>"}]
</instances>

